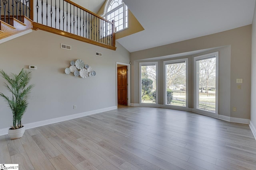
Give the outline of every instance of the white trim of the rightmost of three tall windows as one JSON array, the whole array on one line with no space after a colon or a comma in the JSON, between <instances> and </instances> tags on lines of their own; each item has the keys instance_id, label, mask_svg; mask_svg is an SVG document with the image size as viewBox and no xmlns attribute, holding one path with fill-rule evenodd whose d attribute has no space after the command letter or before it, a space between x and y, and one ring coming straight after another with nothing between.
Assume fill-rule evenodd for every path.
<instances>
[{"instance_id":1,"label":"white trim of the rightmost of three tall windows","mask_svg":"<svg viewBox=\"0 0 256 170\"><path fill-rule=\"evenodd\" d=\"M215 114L218 114L218 72L219 72L219 52L214 52L214 53L209 53L209 54L205 54L205 55L200 55L197 57L194 57L194 109L196 109L198 112L202 113L202 114L208 114L208 113L214 113L212 111L206 111L203 109L198 109L198 93L197 93L197 89L198 89L198 76L197 76L197 63L196 61L201 60L201 59L207 59L207 58L212 58L215 57L216 59L216 88L215 88L215 102L216 102L216 107L215 107Z\"/></svg>"}]
</instances>

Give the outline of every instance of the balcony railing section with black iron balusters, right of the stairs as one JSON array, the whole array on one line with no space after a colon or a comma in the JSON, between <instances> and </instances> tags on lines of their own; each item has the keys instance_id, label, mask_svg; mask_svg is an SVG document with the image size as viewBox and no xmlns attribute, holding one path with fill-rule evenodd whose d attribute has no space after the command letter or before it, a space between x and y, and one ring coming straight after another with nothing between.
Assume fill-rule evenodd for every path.
<instances>
[{"instance_id":1,"label":"balcony railing section with black iron balusters, right of the stairs","mask_svg":"<svg viewBox=\"0 0 256 170\"><path fill-rule=\"evenodd\" d=\"M34 29L116 49L114 20L108 21L70 0L35 0Z\"/></svg>"}]
</instances>

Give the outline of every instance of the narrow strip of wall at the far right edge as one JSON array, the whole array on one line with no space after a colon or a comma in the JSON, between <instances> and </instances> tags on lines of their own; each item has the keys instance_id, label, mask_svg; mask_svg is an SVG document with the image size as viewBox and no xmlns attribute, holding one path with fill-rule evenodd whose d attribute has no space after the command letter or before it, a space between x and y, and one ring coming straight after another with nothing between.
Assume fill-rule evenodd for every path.
<instances>
[{"instance_id":1,"label":"narrow strip of wall at the far right edge","mask_svg":"<svg viewBox=\"0 0 256 170\"><path fill-rule=\"evenodd\" d=\"M251 85L251 122L256 127L256 6L252 21L252 85Z\"/></svg>"}]
</instances>

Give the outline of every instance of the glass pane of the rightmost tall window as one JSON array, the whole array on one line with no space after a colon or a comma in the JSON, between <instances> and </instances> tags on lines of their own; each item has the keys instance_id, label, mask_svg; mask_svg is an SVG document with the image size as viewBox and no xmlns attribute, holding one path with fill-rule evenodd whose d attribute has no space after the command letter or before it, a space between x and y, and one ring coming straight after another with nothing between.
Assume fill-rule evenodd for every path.
<instances>
[{"instance_id":1,"label":"glass pane of the rightmost tall window","mask_svg":"<svg viewBox=\"0 0 256 170\"><path fill-rule=\"evenodd\" d=\"M198 109L213 111L216 108L216 58L197 61Z\"/></svg>"}]
</instances>

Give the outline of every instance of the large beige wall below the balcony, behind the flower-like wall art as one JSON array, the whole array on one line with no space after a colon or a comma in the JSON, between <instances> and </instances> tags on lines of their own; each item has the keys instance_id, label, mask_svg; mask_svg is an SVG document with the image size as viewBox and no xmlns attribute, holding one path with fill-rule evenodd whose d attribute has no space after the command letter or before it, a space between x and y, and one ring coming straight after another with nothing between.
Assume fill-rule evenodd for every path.
<instances>
[{"instance_id":1,"label":"large beige wall below the balcony, behind the flower-like wall art","mask_svg":"<svg viewBox=\"0 0 256 170\"><path fill-rule=\"evenodd\" d=\"M72 51L60 49L60 43L71 45ZM31 82L36 86L22 123L116 106L116 62L130 62L130 53L119 43L116 47L113 51L40 30L0 44L4 71L19 73L28 65L38 67L32 70ZM103 56L96 57L96 51ZM83 79L65 74L64 69L76 59L92 66L96 76ZM0 92L6 94L3 82L0 78ZM9 127L12 113L2 98L0 113L0 129Z\"/></svg>"}]
</instances>

